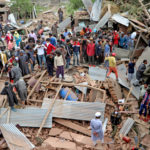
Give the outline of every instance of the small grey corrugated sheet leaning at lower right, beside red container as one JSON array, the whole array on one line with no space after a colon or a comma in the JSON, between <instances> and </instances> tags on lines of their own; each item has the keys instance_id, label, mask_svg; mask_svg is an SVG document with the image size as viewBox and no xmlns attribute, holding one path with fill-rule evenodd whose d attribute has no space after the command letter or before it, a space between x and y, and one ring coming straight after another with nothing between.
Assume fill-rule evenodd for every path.
<instances>
[{"instance_id":1,"label":"small grey corrugated sheet leaning at lower right, beside red container","mask_svg":"<svg viewBox=\"0 0 150 150\"><path fill-rule=\"evenodd\" d=\"M135 121L132 118L128 118L126 122L123 124L123 127L121 128L120 134L126 136L129 133L130 129L132 128L134 122Z\"/></svg>"}]
</instances>

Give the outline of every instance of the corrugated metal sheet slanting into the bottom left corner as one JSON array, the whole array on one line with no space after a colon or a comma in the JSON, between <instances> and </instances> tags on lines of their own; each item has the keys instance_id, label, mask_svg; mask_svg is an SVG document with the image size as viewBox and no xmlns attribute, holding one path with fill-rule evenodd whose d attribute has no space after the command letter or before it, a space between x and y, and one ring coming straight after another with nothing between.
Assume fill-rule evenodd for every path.
<instances>
[{"instance_id":1,"label":"corrugated metal sheet slanting into the bottom left corner","mask_svg":"<svg viewBox=\"0 0 150 150\"><path fill-rule=\"evenodd\" d=\"M31 150L35 148L13 124L3 124L0 129L10 150Z\"/></svg>"}]
</instances>

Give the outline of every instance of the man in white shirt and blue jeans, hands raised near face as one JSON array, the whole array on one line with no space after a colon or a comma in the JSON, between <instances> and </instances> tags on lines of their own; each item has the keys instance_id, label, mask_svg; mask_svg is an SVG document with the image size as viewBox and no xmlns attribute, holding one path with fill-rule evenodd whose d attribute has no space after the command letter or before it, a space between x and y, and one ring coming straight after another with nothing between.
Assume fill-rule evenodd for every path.
<instances>
[{"instance_id":1,"label":"man in white shirt and blue jeans, hands raised near face","mask_svg":"<svg viewBox=\"0 0 150 150\"><path fill-rule=\"evenodd\" d=\"M45 59L45 45L41 44L40 40L37 40L37 45L35 47L35 50L37 50L38 60L40 68L42 69L42 64L44 63L44 67L46 69L46 59Z\"/></svg>"}]
</instances>

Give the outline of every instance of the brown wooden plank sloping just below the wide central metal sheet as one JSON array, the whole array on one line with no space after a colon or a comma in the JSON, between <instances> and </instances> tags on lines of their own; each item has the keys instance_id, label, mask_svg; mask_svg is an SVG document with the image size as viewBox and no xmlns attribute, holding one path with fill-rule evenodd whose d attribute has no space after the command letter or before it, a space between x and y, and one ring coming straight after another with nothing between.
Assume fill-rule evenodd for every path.
<instances>
[{"instance_id":1,"label":"brown wooden plank sloping just below the wide central metal sheet","mask_svg":"<svg viewBox=\"0 0 150 150\"><path fill-rule=\"evenodd\" d=\"M80 125L77 125L77 124L75 124L75 123L72 123L72 122L69 121L69 120L56 119L56 118L55 118L55 119L54 119L54 122L59 123L59 124L65 126L65 127L67 127L67 128L72 129L72 130L78 131L78 132L80 132L80 133L82 133L82 134L91 136L91 131L90 131L90 130L88 130L87 128L84 128L84 127L82 127L82 126L80 126Z\"/></svg>"}]
</instances>

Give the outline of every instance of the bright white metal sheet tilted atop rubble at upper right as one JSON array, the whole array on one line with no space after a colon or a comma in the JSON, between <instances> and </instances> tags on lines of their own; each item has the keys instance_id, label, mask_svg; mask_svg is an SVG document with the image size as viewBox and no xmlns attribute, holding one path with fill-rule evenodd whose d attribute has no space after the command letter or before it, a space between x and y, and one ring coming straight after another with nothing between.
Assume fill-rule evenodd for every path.
<instances>
[{"instance_id":1,"label":"bright white metal sheet tilted atop rubble at upper right","mask_svg":"<svg viewBox=\"0 0 150 150\"><path fill-rule=\"evenodd\" d=\"M112 16L112 19L126 27L129 26L129 20L127 18L121 16L120 14L114 14Z\"/></svg>"}]
</instances>

